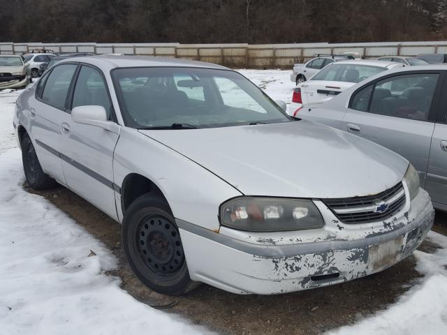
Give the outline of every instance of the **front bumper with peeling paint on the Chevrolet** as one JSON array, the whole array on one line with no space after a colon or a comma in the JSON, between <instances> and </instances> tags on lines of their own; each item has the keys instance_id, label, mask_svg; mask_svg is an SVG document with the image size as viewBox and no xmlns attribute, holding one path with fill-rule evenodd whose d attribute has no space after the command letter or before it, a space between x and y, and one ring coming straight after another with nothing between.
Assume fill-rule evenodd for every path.
<instances>
[{"instance_id":1,"label":"front bumper with peeling paint on the Chevrolet","mask_svg":"<svg viewBox=\"0 0 447 335\"><path fill-rule=\"evenodd\" d=\"M289 236L228 228L217 233L177 220L191 279L237 294L259 295L342 283L411 255L434 221L430 197L422 189L411 204L407 201L396 216L380 223L346 225L323 203L316 204L325 228L288 232Z\"/></svg>"}]
</instances>

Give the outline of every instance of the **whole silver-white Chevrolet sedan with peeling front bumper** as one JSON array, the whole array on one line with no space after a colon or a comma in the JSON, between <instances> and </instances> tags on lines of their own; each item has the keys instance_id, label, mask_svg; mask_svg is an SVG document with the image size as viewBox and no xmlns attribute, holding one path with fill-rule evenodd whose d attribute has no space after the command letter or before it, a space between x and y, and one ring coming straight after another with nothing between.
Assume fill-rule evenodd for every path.
<instances>
[{"instance_id":1,"label":"whole silver-white Chevrolet sedan with peeling front bumper","mask_svg":"<svg viewBox=\"0 0 447 335\"><path fill-rule=\"evenodd\" d=\"M410 255L434 219L406 159L289 117L222 66L66 59L18 98L14 125L28 183L56 179L122 223L135 274L171 295L349 281Z\"/></svg>"}]
</instances>

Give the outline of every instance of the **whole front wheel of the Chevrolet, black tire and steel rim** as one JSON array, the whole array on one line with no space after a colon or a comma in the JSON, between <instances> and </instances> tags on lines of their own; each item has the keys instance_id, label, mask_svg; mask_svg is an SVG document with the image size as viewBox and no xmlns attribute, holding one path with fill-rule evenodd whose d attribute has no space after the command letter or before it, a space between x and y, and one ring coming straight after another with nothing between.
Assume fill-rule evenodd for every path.
<instances>
[{"instance_id":1,"label":"whole front wheel of the Chevrolet, black tire and steel rim","mask_svg":"<svg viewBox=\"0 0 447 335\"><path fill-rule=\"evenodd\" d=\"M135 274L152 290L184 295L199 284L189 278L182 240L165 200L147 193L126 210L122 244Z\"/></svg>"}]
</instances>

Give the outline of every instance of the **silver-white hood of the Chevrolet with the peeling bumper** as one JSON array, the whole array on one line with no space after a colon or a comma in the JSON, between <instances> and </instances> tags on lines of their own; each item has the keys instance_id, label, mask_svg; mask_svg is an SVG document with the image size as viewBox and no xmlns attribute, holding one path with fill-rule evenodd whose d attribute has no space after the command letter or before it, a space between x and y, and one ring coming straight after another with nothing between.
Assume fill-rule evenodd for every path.
<instances>
[{"instance_id":1,"label":"silver-white hood of the Chevrolet with the peeling bumper","mask_svg":"<svg viewBox=\"0 0 447 335\"><path fill-rule=\"evenodd\" d=\"M409 164L378 144L305 120L140 132L217 174L244 195L371 195L402 181Z\"/></svg>"}]
</instances>

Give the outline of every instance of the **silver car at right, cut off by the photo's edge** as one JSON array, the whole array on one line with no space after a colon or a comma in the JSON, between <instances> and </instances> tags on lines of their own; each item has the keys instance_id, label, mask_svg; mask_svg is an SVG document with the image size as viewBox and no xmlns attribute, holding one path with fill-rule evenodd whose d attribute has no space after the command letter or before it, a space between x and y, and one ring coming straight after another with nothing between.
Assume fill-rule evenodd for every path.
<instances>
[{"instance_id":1,"label":"silver car at right, cut off by the photo's edge","mask_svg":"<svg viewBox=\"0 0 447 335\"><path fill-rule=\"evenodd\" d=\"M399 68L346 89L299 117L348 131L407 158L435 208L447 210L445 66Z\"/></svg>"}]
</instances>

